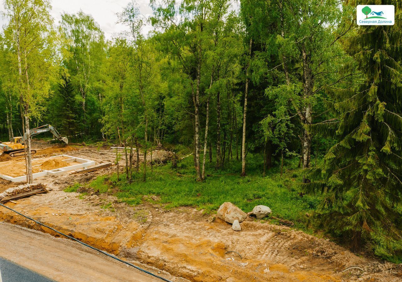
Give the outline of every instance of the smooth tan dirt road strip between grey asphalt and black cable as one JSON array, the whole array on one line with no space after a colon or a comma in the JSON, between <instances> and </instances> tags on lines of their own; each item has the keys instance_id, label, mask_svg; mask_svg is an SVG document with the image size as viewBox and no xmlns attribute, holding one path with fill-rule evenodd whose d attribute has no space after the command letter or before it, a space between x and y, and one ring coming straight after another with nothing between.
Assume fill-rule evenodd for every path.
<instances>
[{"instance_id":1,"label":"smooth tan dirt road strip between grey asphalt and black cable","mask_svg":"<svg viewBox=\"0 0 402 282\"><path fill-rule=\"evenodd\" d=\"M0 223L0 245L1 257L55 281L161 281L76 242L9 223Z\"/></svg>"}]
</instances>

